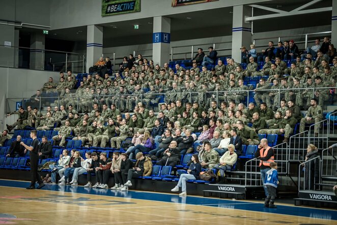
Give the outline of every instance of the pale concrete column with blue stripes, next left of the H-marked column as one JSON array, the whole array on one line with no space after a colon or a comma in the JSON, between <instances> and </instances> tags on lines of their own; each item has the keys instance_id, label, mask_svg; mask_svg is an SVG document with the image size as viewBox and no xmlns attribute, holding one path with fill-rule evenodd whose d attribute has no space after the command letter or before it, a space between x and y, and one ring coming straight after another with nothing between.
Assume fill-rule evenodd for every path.
<instances>
[{"instance_id":1,"label":"pale concrete column with blue stripes, next left of the H-marked column","mask_svg":"<svg viewBox=\"0 0 337 225\"><path fill-rule=\"evenodd\" d=\"M103 27L87 26L87 72L103 54Z\"/></svg>"}]
</instances>

